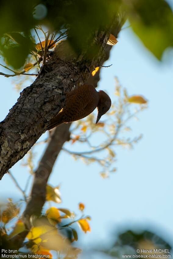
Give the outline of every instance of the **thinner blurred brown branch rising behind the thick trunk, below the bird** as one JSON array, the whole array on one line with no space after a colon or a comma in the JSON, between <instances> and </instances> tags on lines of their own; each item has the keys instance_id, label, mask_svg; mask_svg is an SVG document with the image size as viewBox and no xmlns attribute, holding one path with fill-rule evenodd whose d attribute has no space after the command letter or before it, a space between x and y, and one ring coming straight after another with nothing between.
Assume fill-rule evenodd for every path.
<instances>
[{"instance_id":1,"label":"thinner blurred brown branch rising behind the thick trunk, below the bird","mask_svg":"<svg viewBox=\"0 0 173 259\"><path fill-rule=\"evenodd\" d=\"M63 144L70 140L69 128L71 123L61 124L50 133L50 140L45 153L41 158L38 169L35 172L34 182L31 190L31 199L23 213L24 217L40 215L46 197L46 184L52 172L56 158L62 150Z\"/></svg>"}]
</instances>

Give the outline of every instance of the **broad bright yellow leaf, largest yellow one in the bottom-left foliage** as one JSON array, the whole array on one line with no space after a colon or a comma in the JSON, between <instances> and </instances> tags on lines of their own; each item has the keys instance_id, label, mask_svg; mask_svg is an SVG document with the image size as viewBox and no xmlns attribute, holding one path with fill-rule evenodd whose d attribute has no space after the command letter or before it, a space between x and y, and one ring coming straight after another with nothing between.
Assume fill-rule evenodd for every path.
<instances>
[{"instance_id":1,"label":"broad bright yellow leaf, largest yellow one in the bottom-left foliage","mask_svg":"<svg viewBox=\"0 0 173 259\"><path fill-rule=\"evenodd\" d=\"M38 227L32 227L30 229L30 232L27 234L27 239L37 239L41 235L45 234L48 231L53 230L54 227L48 226L48 225L41 225Z\"/></svg>"}]
</instances>

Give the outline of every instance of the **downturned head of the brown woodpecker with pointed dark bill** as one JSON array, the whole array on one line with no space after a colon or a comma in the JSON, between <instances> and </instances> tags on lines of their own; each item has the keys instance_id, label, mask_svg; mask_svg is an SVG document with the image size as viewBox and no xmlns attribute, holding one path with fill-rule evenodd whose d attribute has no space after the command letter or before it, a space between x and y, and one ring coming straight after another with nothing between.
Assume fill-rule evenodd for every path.
<instances>
[{"instance_id":1,"label":"downturned head of the brown woodpecker with pointed dark bill","mask_svg":"<svg viewBox=\"0 0 173 259\"><path fill-rule=\"evenodd\" d=\"M111 100L108 94L106 94L104 91L100 90L99 91L99 102L97 105L98 109L98 115L97 115L97 120L96 123L99 121L101 116L105 114L111 106Z\"/></svg>"}]
</instances>

